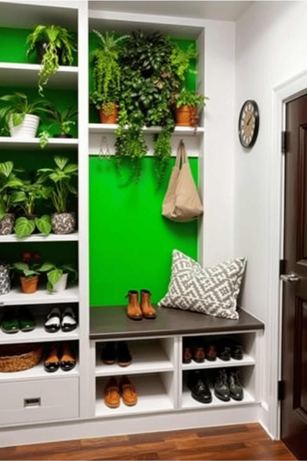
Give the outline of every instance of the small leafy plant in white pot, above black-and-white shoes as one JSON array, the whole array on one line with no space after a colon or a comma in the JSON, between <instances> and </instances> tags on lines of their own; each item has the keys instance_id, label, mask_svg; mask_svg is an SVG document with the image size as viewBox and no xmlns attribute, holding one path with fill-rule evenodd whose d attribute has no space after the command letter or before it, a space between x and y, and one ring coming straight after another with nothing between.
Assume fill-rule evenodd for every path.
<instances>
[{"instance_id":1,"label":"small leafy plant in white pot, above black-and-white shoes","mask_svg":"<svg viewBox=\"0 0 307 461\"><path fill-rule=\"evenodd\" d=\"M78 278L78 272L70 264L63 264L62 266L58 267L51 262L45 262L39 271L46 272L48 279L46 288L49 293L52 293L52 291L64 291L66 289L69 273L73 274L74 276L72 282L75 282Z\"/></svg>"}]
</instances>

